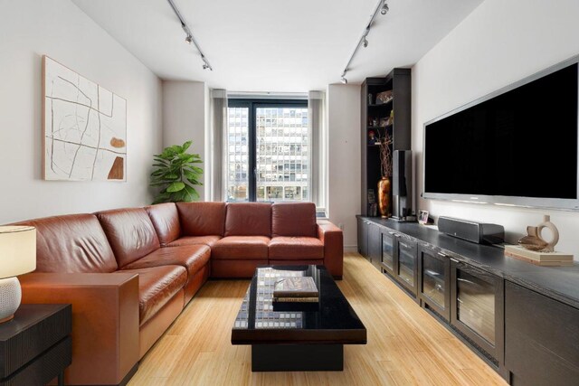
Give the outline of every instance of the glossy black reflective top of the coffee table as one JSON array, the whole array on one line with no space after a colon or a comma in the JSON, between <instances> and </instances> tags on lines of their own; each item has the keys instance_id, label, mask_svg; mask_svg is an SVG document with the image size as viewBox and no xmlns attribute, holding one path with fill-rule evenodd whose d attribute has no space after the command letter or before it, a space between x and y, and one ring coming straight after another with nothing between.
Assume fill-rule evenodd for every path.
<instances>
[{"instance_id":1,"label":"glossy black reflective top of the coffee table","mask_svg":"<svg viewBox=\"0 0 579 386\"><path fill-rule=\"evenodd\" d=\"M272 302L277 278L309 276L319 303ZM232 329L232 344L365 344L366 331L356 312L323 266L257 268Z\"/></svg>"}]
</instances>

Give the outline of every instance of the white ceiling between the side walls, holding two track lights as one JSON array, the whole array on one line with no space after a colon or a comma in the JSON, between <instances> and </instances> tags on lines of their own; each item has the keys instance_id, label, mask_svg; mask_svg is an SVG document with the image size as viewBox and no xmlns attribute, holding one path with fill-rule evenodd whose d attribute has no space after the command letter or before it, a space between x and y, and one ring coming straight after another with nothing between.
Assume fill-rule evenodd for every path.
<instances>
[{"instance_id":1,"label":"white ceiling between the side walls, holding two track lights","mask_svg":"<svg viewBox=\"0 0 579 386\"><path fill-rule=\"evenodd\" d=\"M175 0L214 71L204 71L166 0L73 0L164 80L235 91L307 91L337 83L377 0ZM390 0L346 78L410 67L482 0Z\"/></svg>"}]
</instances>

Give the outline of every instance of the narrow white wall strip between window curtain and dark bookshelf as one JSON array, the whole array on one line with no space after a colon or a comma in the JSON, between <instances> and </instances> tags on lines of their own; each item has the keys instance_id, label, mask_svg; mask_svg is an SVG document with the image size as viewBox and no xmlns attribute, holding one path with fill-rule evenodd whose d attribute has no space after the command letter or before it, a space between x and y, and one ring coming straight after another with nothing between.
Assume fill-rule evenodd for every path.
<instances>
[{"instance_id":1,"label":"narrow white wall strip between window curtain and dark bookshelf","mask_svg":"<svg viewBox=\"0 0 579 386\"><path fill-rule=\"evenodd\" d=\"M343 225L344 248L356 250L360 210L360 86L331 84L327 90L329 221Z\"/></svg>"}]
</instances>

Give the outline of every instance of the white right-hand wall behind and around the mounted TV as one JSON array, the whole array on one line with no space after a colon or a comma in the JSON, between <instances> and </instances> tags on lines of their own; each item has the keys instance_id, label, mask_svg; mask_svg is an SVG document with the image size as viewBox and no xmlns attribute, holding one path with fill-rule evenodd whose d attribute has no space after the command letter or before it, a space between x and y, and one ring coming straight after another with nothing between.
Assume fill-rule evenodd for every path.
<instances>
[{"instance_id":1,"label":"white right-hand wall behind and around the mounted TV","mask_svg":"<svg viewBox=\"0 0 579 386\"><path fill-rule=\"evenodd\" d=\"M579 54L579 2L486 0L413 67L413 152L417 192L422 192L422 125L491 91ZM548 98L548 97L547 97ZM539 104L540 105L540 104ZM541 114L555 111L537 111ZM548 127L546 127L548 130ZM541 146L529 160L540 159ZM548 175L537 181L551 184ZM543 213L560 231L557 249L579 259L579 213L510 209L418 199L418 208L505 226L514 242Z\"/></svg>"}]
</instances>

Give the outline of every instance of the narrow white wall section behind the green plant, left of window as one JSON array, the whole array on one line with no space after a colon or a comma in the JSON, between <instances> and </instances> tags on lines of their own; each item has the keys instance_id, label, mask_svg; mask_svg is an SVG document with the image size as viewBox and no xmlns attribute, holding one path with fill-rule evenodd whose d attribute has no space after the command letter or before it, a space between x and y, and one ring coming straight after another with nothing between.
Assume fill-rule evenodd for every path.
<instances>
[{"instance_id":1,"label":"narrow white wall section behind the green plant, left of window","mask_svg":"<svg viewBox=\"0 0 579 386\"><path fill-rule=\"evenodd\" d=\"M200 81L163 81L163 146L183 145L192 140L189 152L205 161L205 102L207 88ZM203 182L208 173L204 164ZM199 201L204 201L205 187L195 186Z\"/></svg>"}]
</instances>

